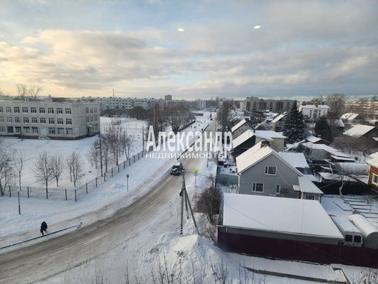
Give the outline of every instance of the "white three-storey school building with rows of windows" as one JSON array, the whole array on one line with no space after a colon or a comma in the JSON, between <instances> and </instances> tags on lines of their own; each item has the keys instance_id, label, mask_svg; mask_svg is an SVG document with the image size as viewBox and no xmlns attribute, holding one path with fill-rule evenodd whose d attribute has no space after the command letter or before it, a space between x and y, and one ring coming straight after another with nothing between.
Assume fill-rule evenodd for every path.
<instances>
[{"instance_id":1,"label":"white three-storey school building with rows of windows","mask_svg":"<svg viewBox=\"0 0 378 284\"><path fill-rule=\"evenodd\" d=\"M99 133L99 105L83 102L0 101L0 135L74 140Z\"/></svg>"}]
</instances>

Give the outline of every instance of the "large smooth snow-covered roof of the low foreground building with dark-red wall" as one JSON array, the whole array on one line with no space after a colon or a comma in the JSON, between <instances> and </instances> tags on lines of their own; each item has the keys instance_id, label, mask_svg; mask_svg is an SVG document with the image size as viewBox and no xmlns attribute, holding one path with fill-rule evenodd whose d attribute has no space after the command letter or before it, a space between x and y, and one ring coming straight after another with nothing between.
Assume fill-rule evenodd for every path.
<instances>
[{"instance_id":1,"label":"large smooth snow-covered roof of the low foreground building with dark-red wall","mask_svg":"<svg viewBox=\"0 0 378 284\"><path fill-rule=\"evenodd\" d=\"M223 225L343 239L316 200L225 193Z\"/></svg>"}]
</instances>

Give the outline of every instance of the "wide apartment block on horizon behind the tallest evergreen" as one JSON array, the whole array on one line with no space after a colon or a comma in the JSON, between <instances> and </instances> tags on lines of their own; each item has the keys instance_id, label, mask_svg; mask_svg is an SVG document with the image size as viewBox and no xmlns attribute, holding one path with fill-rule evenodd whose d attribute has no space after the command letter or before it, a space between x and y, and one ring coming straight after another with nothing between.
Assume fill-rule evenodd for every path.
<instances>
[{"instance_id":1,"label":"wide apartment block on horizon behind the tallest evergreen","mask_svg":"<svg viewBox=\"0 0 378 284\"><path fill-rule=\"evenodd\" d=\"M248 97L245 99L245 111L273 111L282 114L290 111L296 100L293 99L260 99L258 97Z\"/></svg>"}]
</instances>

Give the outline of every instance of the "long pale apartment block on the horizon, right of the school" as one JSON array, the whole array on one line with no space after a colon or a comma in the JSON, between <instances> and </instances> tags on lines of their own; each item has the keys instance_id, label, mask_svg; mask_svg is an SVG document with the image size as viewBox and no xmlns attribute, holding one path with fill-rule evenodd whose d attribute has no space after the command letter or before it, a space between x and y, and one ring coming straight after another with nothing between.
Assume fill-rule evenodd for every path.
<instances>
[{"instance_id":1,"label":"long pale apartment block on the horizon, right of the school","mask_svg":"<svg viewBox=\"0 0 378 284\"><path fill-rule=\"evenodd\" d=\"M162 105L162 99L138 99L138 98L121 98L121 97L82 97L80 99L86 103L99 104L102 110L105 109L133 109L133 107L143 107L149 109L153 104Z\"/></svg>"}]
</instances>

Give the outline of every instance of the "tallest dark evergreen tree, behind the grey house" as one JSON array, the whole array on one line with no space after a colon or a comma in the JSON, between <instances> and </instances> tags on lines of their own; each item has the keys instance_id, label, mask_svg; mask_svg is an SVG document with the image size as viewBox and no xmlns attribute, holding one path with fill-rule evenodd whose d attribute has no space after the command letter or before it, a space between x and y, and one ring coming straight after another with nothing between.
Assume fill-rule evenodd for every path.
<instances>
[{"instance_id":1,"label":"tallest dark evergreen tree, behind the grey house","mask_svg":"<svg viewBox=\"0 0 378 284\"><path fill-rule=\"evenodd\" d=\"M287 143L296 143L302 141L306 136L306 124L304 117L296 108L296 103L291 107L287 114L282 132L287 136Z\"/></svg>"}]
</instances>

